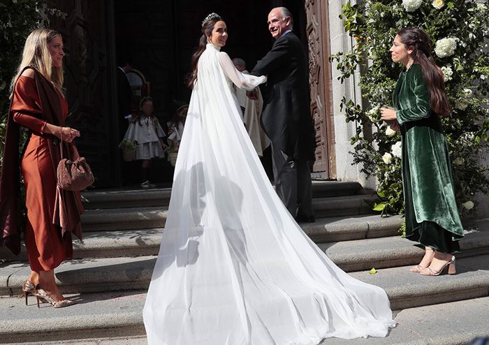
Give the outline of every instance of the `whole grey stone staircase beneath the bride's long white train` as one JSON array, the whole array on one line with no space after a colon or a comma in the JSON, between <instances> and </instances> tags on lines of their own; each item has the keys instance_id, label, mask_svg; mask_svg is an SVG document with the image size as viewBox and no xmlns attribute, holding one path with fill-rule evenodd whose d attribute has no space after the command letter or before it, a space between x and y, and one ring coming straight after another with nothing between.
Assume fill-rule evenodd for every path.
<instances>
[{"instance_id":1,"label":"whole grey stone staircase beneath the bride's long white train","mask_svg":"<svg viewBox=\"0 0 489 345\"><path fill-rule=\"evenodd\" d=\"M391 307L399 311L400 326L389 337L348 342L445 345L489 336L489 327L472 321L463 323L458 335L444 327L431 328L430 336L423 336L412 326L419 325L417 312L444 314L452 307L463 311L465 305L480 309L479 318L489 320L489 221L479 221L467 231L457 255L458 274L423 277L406 267L418 263L423 250L398 235L400 217L370 212L375 200L371 192L354 182L314 182L313 191L317 220L302 224L302 229L343 270L384 288ZM82 194L87 208L82 216L85 238L73 243L73 260L56 270L61 290L79 301L73 307L43 304L38 309L32 297L26 307L18 296L30 272L27 254L22 249L15 257L0 247L0 344L145 344L142 309L170 193L170 189L135 189ZM376 274L369 274L372 267ZM327 339L325 344L345 342Z\"/></svg>"}]
</instances>

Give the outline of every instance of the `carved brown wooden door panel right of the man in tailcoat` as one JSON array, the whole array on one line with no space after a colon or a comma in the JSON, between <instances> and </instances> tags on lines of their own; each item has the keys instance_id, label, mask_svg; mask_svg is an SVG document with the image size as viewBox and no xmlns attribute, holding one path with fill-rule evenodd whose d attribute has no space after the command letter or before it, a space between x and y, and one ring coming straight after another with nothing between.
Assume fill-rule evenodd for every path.
<instances>
[{"instance_id":1,"label":"carved brown wooden door panel right of the man in tailcoat","mask_svg":"<svg viewBox=\"0 0 489 345\"><path fill-rule=\"evenodd\" d=\"M316 128L314 175L335 178L334 132L331 107L328 1L305 0L309 43L311 113Z\"/></svg>"}]
</instances>

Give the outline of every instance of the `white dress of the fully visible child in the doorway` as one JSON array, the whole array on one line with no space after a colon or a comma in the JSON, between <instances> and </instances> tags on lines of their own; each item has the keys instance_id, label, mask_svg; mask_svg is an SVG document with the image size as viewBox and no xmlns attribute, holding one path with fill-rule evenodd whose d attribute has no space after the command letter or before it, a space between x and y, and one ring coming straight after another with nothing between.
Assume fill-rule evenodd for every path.
<instances>
[{"instance_id":1,"label":"white dress of the fully visible child in the doorway","mask_svg":"<svg viewBox=\"0 0 489 345\"><path fill-rule=\"evenodd\" d=\"M166 136L158 119L154 116L141 117L139 121L131 122L124 139L136 140L136 160L163 158L165 152L160 138Z\"/></svg>"}]
</instances>

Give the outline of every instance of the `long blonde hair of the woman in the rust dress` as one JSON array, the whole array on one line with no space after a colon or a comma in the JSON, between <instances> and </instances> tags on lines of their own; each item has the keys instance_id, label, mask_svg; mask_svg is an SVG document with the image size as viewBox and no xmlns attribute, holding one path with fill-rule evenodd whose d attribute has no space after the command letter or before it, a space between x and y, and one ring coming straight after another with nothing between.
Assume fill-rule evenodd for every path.
<instances>
[{"instance_id":1,"label":"long blonde hair of the woman in the rust dress","mask_svg":"<svg viewBox=\"0 0 489 345\"><path fill-rule=\"evenodd\" d=\"M61 65L59 68L52 66L51 53L48 47L48 43L50 43L54 37L59 35L60 34L58 31L42 28L32 31L31 34L27 36L27 40L25 41L24 45L24 52L22 52L22 61L20 62L17 73L15 74L12 84L10 85L11 91L13 91L15 82L22 74L24 67L31 66L36 68L36 70L44 75L46 79L50 80L52 85L54 85L54 87L56 87L61 94L64 94L63 66Z\"/></svg>"}]
</instances>

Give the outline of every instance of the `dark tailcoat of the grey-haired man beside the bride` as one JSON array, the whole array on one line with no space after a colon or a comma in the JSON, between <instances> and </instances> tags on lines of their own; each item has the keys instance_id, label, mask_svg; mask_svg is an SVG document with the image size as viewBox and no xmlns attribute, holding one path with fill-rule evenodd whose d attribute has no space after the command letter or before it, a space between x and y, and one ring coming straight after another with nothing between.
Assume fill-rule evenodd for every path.
<instances>
[{"instance_id":1,"label":"dark tailcoat of the grey-haired man beside the bride","mask_svg":"<svg viewBox=\"0 0 489 345\"><path fill-rule=\"evenodd\" d=\"M294 159L314 160L307 59L299 38L293 32L278 38L251 74L268 75L261 125L273 145Z\"/></svg>"}]
</instances>

